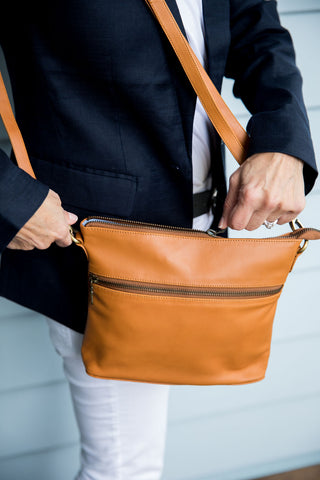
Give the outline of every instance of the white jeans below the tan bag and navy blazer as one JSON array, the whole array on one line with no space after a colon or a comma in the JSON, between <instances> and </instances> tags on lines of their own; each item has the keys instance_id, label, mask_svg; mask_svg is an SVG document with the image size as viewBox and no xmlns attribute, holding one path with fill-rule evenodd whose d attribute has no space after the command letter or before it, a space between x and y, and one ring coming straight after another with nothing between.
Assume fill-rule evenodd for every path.
<instances>
[{"instance_id":1,"label":"white jeans below the tan bag and navy blazer","mask_svg":"<svg viewBox=\"0 0 320 480\"><path fill-rule=\"evenodd\" d=\"M47 321L63 359L80 430L81 469L76 480L159 480L169 387L90 377L80 354L83 336Z\"/></svg>"}]
</instances>

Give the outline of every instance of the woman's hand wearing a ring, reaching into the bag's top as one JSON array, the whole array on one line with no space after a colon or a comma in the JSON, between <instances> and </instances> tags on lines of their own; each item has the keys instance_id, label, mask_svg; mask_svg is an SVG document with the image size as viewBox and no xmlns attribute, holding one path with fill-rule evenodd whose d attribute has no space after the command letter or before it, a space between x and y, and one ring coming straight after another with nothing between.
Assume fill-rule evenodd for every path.
<instances>
[{"instance_id":1,"label":"woman's hand wearing a ring, reaching into the bag's top","mask_svg":"<svg viewBox=\"0 0 320 480\"><path fill-rule=\"evenodd\" d=\"M290 222L304 209L303 162L283 153L249 157L230 177L219 227L255 230Z\"/></svg>"}]
</instances>

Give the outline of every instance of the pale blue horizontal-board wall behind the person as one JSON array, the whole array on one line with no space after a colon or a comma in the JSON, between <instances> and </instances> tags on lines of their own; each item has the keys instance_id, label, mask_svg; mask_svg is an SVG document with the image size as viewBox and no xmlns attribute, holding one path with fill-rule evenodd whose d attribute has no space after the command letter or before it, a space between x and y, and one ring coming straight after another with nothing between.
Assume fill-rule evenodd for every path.
<instances>
[{"instance_id":1,"label":"pale blue horizontal-board wall behind the person","mask_svg":"<svg viewBox=\"0 0 320 480\"><path fill-rule=\"evenodd\" d=\"M319 156L320 0L279 7L296 44ZM230 82L224 96L245 124ZM319 206L318 182L303 223L320 225ZM290 274L263 382L172 388L166 480L244 480L320 463L319 248L312 244ZM78 433L44 319L3 299L0 316L0 480L71 480Z\"/></svg>"}]
</instances>

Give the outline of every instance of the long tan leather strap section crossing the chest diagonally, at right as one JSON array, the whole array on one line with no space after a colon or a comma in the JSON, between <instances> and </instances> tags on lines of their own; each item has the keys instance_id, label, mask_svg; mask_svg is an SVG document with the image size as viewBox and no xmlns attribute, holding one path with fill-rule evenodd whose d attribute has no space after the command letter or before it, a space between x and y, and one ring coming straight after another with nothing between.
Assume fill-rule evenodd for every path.
<instances>
[{"instance_id":1,"label":"long tan leather strap section crossing the chest diagonally, at right","mask_svg":"<svg viewBox=\"0 0 320 480\"><path fill-rule=\"evenodd\" d=\"M241 165L249 137L229 110L218 90L182 34L165 0L145 0L160 23L179 61L220 137Z\"/></svg>"}]
</instances>

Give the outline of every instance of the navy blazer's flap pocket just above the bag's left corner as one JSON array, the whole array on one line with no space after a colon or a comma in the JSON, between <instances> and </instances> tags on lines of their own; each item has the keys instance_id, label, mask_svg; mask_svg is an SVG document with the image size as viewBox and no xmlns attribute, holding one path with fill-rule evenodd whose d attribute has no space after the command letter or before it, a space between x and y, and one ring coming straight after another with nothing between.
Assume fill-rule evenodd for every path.
<instances>
[{"instance_id":1,"label":"navy blazer's flap pocket just above the bag's left corner","mask_svg":"<svg viewBox=\"0 0 320 480\"><path fill-rule=\"evenodd\" d=\"M137 177L31 157L36 177L60 195L74 213L129 217L137 191Z\"/></svg>"}]
</instances>

